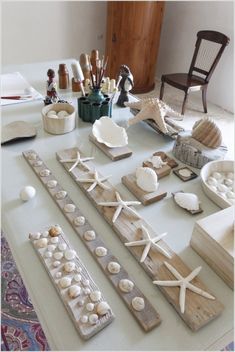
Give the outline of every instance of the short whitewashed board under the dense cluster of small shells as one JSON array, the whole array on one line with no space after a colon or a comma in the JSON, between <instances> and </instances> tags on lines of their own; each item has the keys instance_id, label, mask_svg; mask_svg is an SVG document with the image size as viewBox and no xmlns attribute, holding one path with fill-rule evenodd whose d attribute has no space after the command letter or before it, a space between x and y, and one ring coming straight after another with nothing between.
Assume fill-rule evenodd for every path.
<instances>
[{"instance_id":1,"label":"short whitewashed board under the dense cluster of small shells","mask_svg":"<svg viewBox=\"0 0 235 352\"><path fill-rule=\"evenodd\" d=\"M49 228L48 228L48 230L49 230ZM81 321L81 317L83 315L86 315L87 317L89 317L90 314L97 315L97 311L96 311L97 304L95 304L94 310L92 312L88 312L86 309L86 304L89 302L92 302L92 301L89 297L89 294L87 294L85 292L85 289L89 289L90 292L100 291L100 289L98 288L96 283L93 281L92 277L88 273L84 264L79 259L77 253L76 253L76 257L73 259L73 262L76 265L76 269L74 271L72 271L70 273L67 273L64 271L64 265L65 265L65 263L68 263L68 260L64 256L64 252L63 252L63 258L60 259L60 265L58 267L54 267L53 263L54 263L55 259L53 258L53 256L51 258L45 257L45 253L48 251L47 246L52 244L51 243L52 237L50 237L50 235L48 235L48 237L46 238L43 236L43 233L41 233L41 239L42 238L45 238L48 240L48 244L44 248L38 248L37 243L38 243L38 241L40 241L40 239L34 240L33 238L31 238L30 242L32 243L36 253L38 254L42 264L44 265L44 267L50 277L51 282L53 283L54 287L56 288L57 293L59 294L60 299L62 300L64 306L66 307L66 309L67 309L67 311L68 311L68 313L69 313L69 315L75 325L75 328L77 329L80 336L84 340L88 340L89 338L91 338L92 336L97 334L100 330L102 330L107 325L109 325L114 319L114 314L110 308L105 315L99 316L97 323L94 325L91 324L89 321L87 323L83 323ZM59 249L58 246L61 244L65 244L67 246L67 249L73 250L73 248L69 244L64 233L62 233L58 236L58 240L59 240L58 243L56 245L54 244L56 246L56 249L52 253L58 252L58 249ZM79 269L79 271L77 271L77 269ZM76 286L80 287L81 293L76 298L70 298L70 296L69 296L69 287L71 285L67 288L61 288L61 285L60 285L61 278L56 278L56 273L58 273L58 272L61 273L61 275L62 275L61 278L68 277L72 280L72 282L71 282L72 285L76 285ZM81 281L79 283L74 280L74 276L75 276L75 274L78 274L78 272L81 275ZM85 280L88 280L87 281L88 285L83 284L85 282ZM81 300L84 301L84 304L80 306L78 302L79 301L81 302ZM106 302L103 294L101 293L101 298L99 299L99 301L97 303L100 303L103 301Z\"/></svg>"}]
</instances>

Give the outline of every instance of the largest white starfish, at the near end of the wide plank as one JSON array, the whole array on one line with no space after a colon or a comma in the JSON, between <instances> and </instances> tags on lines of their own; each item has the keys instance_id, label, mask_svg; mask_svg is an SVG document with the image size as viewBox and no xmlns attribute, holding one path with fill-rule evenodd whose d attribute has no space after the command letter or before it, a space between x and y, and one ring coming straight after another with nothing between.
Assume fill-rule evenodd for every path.
<instances>
[{"instance_id":1,"label":"largest white starfish, at the near end of the wide plank","mask_svg":"<svg viewBox=\"0 0 235 352\"><path fill-rule=\"evenodd\" d=\"M166 267L169 269L169 271L176 277L178 280L170 280L170 281L153 281L155 285L159 286L179 286L180 287L180 310L181 313L183 314L185 312L185 296L186 296L186 289L189 289L195 293L197 293L200 296L203 296L208 299L215 299L212 295L209 293L203 291L201 288L194 286L193 284L190 283L199 273L201 270L201 266L198 268L194 269L188 276L183 277L180 275L180 273L169 263L164 262Z\"/></svg>"}]
</instances>

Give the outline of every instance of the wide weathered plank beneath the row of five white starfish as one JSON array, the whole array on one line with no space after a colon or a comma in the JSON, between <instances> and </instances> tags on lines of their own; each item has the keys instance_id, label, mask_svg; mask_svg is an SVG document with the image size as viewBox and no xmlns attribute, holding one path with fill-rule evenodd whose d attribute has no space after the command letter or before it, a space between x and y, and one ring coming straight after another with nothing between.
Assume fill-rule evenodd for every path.
<instances>
[{"instance_id":1,"label":"wide weathered plank beneath the row of five white starfish","mask_svg":"<svg viewBox=\"0 0 235 352\"><path fill-rule=\"evenodd\" d=\"M66 149L57 153L58 161L67 158L73 158L78 151L78 148ZM69 163L62 164L64 168L68 171L71 167ZM90 169L94 169L94 164L88 162ZM69 172L69 171L68 171ZM149 232L151 237L156 236L156 232L150 227L150 225L143 219L136 219L133 216L129 216L126 212L122 211L118 219L113 223L112 218L115 212L113 207L100 206L99 202L105 201L115 201L115 188L108 181L105 182L106 185L110 187L110 190L103 190L100 187L96 187L91 192L87 192L90 184L83 183L79 179L84 176L84 171L81 168L76 167L71 172L69 172L71 177L79 185L81 190L88 196L88 198L95 205L100 214L104 219L111 225L113 230L117 233L120 240L123 243L128 243L131 241L136 241L142 238L142 232L140 231L143 225ZM101 175L99 175L101 177ZM156 251L155 249L150 249L146 259L140 263L143 269L147 272L151 280L173 280L174 276L169 272L164 262L169 262L172 266L178 270L182 276L186 277L189 275L191 270L188 266L174 253L167 244L160 240L158 244L168 252L171 256L170 259L166 258L163 254ZM130 253L140 262L142 257L143 247L127 247ZM197 287L209 292L205 284L199 278L194 278L192 284ZM158 286L163 295L169 301L169 303L175 308L181 318L185 323L193 330L196 331L209 323L212 319L221 314L224 309L223 305L217 300L208 300L190 290L187 290L186 294L186 309L184 313L181 313L179 305L179 288L178 287L166 287Z\"/></svg>"}]
</instances>

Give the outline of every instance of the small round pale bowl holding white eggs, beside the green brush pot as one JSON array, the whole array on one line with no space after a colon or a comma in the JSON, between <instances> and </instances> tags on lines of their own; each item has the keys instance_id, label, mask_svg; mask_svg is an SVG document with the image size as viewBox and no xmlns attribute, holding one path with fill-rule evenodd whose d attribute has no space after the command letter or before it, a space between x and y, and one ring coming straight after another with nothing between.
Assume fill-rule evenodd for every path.
<instances>
[{"instance_id":1,"label":"small round pale bowl holding white eggs, beside the green brush pot","mask_svg":"<svg viewBox=\"0 0 235 352\"><path fill-rule=\"evenodd\" d=\"M63 118L51 118L47 116L50 110L56 111L67 111L69 114ZM42 109L42 121L43 128L45 131L51 134L64 134L71 132L75 128L75 109L71 104L68 103L55 103L44 106Z\"/></svg>"}]
</instances>

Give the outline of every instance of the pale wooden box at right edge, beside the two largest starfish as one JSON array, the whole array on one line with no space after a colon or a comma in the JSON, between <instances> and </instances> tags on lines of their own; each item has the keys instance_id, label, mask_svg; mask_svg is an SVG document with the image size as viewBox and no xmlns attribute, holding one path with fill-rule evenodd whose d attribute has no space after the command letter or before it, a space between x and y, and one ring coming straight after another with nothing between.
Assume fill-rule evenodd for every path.
<instances>
[{"instance_id":1,"label":"pale wooden box at right edge, beside the two largest starfish","mask_svg":"<svg viewBox=\"0 0 235 352\"><path fill-rule=\"evenodd\" d=\"M234 289L234 207L198 220L190 245Z\"/></svg>"}]
</instances>

